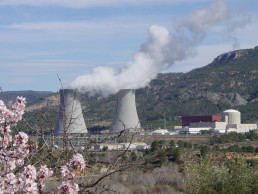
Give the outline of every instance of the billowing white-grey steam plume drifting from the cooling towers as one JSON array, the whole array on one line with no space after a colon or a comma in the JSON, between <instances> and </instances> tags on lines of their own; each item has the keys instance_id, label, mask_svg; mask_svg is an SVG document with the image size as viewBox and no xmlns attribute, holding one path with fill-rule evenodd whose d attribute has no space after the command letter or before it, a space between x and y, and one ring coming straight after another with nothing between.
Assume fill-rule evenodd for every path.
<instances>
[{"instance_id":1,"label":"billowing white-grey steam plume drifting from the cooling towers","mask_svg":"<svg viewBox=\"0 0 258 194\"><path fill-rule=\"evenodd\" d=\"M174 20L174 34L165 27L153 25L149 28L149 40L120 71L96 67L91 74L78 76L68 87L103 96L120 89L145 87L165 66L192 56L194 46L205 38L206 30L230 18L225 2L217 1L208 8L195 10L187 18Z\"/></svg>"}]
</instances>

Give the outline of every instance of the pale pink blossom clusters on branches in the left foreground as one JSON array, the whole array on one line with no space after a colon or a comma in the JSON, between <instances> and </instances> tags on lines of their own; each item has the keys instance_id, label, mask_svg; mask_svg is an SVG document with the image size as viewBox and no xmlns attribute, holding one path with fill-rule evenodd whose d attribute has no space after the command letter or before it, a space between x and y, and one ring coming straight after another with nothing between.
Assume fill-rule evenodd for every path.
<instances>
[{"instance_id":1,"label":"pale pink blossom clusters on branches in the left foreground","mask_svg":"<svg viewBox=\"0 0 258 194\"><path fill-rule=\"evenodd\" d=\"M14 174L13 172L22 167L25 158L34 150L37 144L28 145L28 135L19 132L12 138L10 126L15 126L22 119L25 110L26 100L17 97L11 109L8 109L0 100L0 193L38 193L44 187L44 180L52 176L53 171L42 165L39 170L33 165L25 166L23 171ZM73 156L66 166L61 167L62 185L60 193L77 193L78 184L72 184L75 177L74 169L85 168L85 161L81 154Z\"/></svg>"}]
</instances>

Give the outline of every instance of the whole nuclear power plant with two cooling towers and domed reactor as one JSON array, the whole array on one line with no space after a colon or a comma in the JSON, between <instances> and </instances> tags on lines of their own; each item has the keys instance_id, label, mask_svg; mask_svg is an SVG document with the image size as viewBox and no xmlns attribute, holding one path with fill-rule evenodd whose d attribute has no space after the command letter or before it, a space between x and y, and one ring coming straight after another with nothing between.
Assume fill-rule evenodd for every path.
<instances>
[{"instance_id":1,"label":"whole nuclear power plant with two cooling towers and domed reactor","mask_svg":"<svg viewBox=\"0 0 258 194\"><path fill-rule=\"evenodd\" d=\"M69 141L73 147L83 149L89 139L102 142L106 139L105 135L88 135L87 127L83 118L82 108L80 103L80 92L72 89L61 89L60 91L60 110L59 119L56 123L54 133L55 145L62 147L62 134L66 132L69 136ZM201 131L210 131L214 134L223 134L229 132L245 133L251 130L257 130L256 124L242 124L241 113L237 110L229 109L222 112L220 115L211 116L182 116L182 126L173 132L168 129L158 129L155 131L140 130L141 124L138 118L135 90L123 89L116 95L114 103L113 120L109 130L109 139L104 145L96 143L91 149L100 150L101 146L106 146L110 150L128 149L124 143L117 142L114 138L119 132L125 131L137 133L139 137L148 136L180 136L182 134L199 134ZM108 132L107 132L108 133ZM148 149L148 146L141 142L135 143L130 149Z\"/></svg>"}]
</instances>

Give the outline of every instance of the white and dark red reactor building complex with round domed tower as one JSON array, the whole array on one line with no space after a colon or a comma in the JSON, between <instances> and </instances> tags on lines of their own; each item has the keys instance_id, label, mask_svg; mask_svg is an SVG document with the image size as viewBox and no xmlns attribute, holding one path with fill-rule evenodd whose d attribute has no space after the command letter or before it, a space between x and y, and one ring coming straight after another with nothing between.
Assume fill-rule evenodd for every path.
<instances>
[{"instance_id":1,"label":"white and dark red reactor building complex with round domed tower","mask_svg":"<svg viewBox=\"0 0 258 194\"><path fill-rule=\"evenodd\" d=\"M245 133L257 129L257 124L241 124L241 113L233 109L224 111L221 116L193 116L184 118L184 121L182 118L182 124L183 122L188 125L179 130L181 134L200 133L201 130L211 130L214 133Z\"/></svg>"}]
</instances>

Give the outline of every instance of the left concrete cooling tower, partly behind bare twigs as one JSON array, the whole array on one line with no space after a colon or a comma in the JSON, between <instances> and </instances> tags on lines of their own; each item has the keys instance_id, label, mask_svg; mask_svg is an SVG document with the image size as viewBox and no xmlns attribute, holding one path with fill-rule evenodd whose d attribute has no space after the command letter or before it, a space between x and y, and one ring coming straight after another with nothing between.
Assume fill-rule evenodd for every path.
<instances>
[{"instance_id":1,"label":"left concrete cooling tower, partly behind bare twigs","mask_svg":"<svg viewBox=\"0 0 258 194\"><path fill-rule=\"evenodd\" d=\"M54 130L55 134L64 131L71 135L83 136L88 131L82 115L80 93L78 90L61 89L59 119Z\"/></svg>"}]
</instances>

